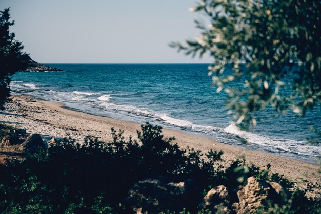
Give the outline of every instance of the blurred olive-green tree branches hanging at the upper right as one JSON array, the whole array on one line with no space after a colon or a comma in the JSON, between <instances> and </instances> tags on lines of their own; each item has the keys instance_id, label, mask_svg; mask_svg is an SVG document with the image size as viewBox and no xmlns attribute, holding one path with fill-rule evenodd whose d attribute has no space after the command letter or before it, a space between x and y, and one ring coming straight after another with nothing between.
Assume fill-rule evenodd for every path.
<instances>
[{"instance_id":1,"label":"blurred olive-green tree branches hanging at the upper right","mask_svg":"<svg viewBox=\"0 0 321 214\"><path fill-rule=\"evenodd\" d=\"M254 113L267 106L303 116L319 105L320 1L202 0L190 10L203 14L209 25L195 21L200 35L170 46L213 58L209 76L217 92L228 94L235 124L255 125ZM225 74L228 65L231 74ZM230 87L232 81L243 87Z\"/></svg>"}]
</instances>

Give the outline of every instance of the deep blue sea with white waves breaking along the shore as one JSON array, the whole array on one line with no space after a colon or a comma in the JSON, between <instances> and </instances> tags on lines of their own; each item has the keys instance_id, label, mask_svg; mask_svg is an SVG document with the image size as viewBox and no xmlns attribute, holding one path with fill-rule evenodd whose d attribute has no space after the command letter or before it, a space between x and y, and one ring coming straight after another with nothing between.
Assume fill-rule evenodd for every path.
<instances>
[{"instance_id":1,"label":"deep blue sea with white waves breaking along the shore","mask_svg":"<svg viewBox=\"0 0 321 214\"><path fill-rule=\"evenodd\" d=\"M224 92L216 93L203 64L51 64L63 72L18 72L14 94L61 101L79 111L146 121L204 135L219 142L314 162L321 145L309 127L321 129L320 106L305 117L266 110L249 131L230 125ZM236 84L236 83L235 83ZM236 85L237 86L237 85ZM245 139L247 143L241 140Z\"/></svg>"}]
</instances>

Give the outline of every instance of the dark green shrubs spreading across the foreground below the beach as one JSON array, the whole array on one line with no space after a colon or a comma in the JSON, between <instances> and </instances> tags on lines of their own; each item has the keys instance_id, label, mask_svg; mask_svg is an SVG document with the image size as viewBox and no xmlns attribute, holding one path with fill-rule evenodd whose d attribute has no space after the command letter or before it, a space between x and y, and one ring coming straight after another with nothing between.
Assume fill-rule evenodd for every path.
<instances>
[{"instance_id":1,"label":"dark green shrubs spreading across the foreground below the beach","mask_svg":"<svg viewBox=\"0 0 321 214\"><path fill-rule=\"evenodd\" d=\"M0 164L0 213L131 213L125 200L129 189L139 180L157 176L194 181L193 197L176 213L211 213L199 210L198 204L212 187L225 185L233 190L246 185L250 176L280 181L269 173L270 166L260 169L235 160L223 167L222 151L202 154L180 149L173 138L164 138L161 127L148 123L141 127L138 141L112 130L111 142L89 136L79 144L65 138L48 151L27 153L23 160L8 159ZM285 188L292 187L284 180ZM287 209L310 213L316 202L304 192L292 195L298 200L289 201Z\"/></svg>"}]
</instances>

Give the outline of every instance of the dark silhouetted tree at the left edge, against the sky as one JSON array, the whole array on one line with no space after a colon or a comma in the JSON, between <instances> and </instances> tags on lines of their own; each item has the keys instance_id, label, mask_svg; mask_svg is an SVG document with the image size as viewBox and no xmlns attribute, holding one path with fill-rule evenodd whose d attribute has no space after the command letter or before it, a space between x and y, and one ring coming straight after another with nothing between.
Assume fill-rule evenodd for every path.
<instances>
[{"instance_id":1,"label":"dark silhouetted tree at the left edge, against the sky","mask_svg":"<svg viewBox=\"0 0 321 214\"><path fill-rule=\"evenodd\" d=\"M10 33L9 27L14 25L10 21L9 8L0 11L0 108L10 96L10 75L26 67L26 53L23 45Z\"/></svg>"}]
</instances>

